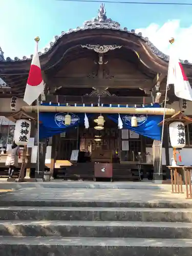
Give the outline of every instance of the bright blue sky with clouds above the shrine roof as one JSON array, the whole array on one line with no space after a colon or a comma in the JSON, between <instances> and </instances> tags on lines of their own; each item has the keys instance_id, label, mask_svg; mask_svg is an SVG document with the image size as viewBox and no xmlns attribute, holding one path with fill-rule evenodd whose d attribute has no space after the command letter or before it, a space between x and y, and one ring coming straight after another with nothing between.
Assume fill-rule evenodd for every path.
<instances>
[{"instance_id":1,"label":"bright blue sky with clouds above the shrine roof","mask_svg":"<svg viewBox=\"0 0 192 256\"><path fill-rule=\"evenodd\" d=\"M122 1L122 0L121 0ZM125 0L124 0L125 1ZM146 0L136 0L146 2ZM161 3L191 3L191 0L148 0ZM97 16L99 3L59 0L0 0L0 46L5 57L30 56L39 36L39 49L55 35L83 25ZM175 37L178 57L192 62L192 6L105 3L106 15L128 30L142 32L163 53Z\"/></svg>"}]
</instances>

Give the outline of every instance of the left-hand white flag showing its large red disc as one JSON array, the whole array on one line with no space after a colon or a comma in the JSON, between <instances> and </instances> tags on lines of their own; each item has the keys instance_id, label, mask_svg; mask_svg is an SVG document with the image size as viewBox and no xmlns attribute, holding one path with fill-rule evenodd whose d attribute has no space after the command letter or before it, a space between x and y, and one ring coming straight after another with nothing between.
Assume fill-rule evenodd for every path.
<instances>
[{"instance_id":1,"label":"left-hand white flag showing its large red disc","mask_svg":"<svg viewBox=\"0 0 192 256\"><path fill-rule=\"evenodd\" d=\"M31 105L39 95L44 92L44 80L42 80L38 52L33 55L29 77L25 89L24 101Z\"/></svg>"}]
</instances>

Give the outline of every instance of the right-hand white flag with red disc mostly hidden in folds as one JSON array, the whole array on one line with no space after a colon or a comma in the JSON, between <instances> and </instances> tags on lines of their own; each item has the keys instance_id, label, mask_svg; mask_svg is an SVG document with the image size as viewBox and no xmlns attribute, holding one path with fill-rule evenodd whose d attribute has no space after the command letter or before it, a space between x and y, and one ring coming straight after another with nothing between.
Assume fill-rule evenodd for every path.
<instances>
[{"instance_id":1,"label":"right-hand white flag with red disc mostly hidden in folds","mask_svg":"<svg viewBox=\"0 0 192 256\"><path fill-rule=\"evenodd\" d=\"M169 57L167 84L174 84L175 95L192 101L192 89L183 66L172 50Z\"/></svg>"}]
</instances>

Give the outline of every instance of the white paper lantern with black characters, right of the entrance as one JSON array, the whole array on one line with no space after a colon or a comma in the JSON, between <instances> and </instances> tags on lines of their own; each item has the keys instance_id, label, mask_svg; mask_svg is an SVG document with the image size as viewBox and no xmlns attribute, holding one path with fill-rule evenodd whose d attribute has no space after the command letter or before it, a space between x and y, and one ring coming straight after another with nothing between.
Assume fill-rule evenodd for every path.
<instances>
[{"instance_id":1,"label":"white paper lantern with black characters, right of the entrance","mask_svg":"<svg viewBox=\"0 0 192 256\"><path fill-rule=\"evenodd\" d=\"M169 124L170 144L174 148L185 146L185 126L183 122L175 121Z\"/></svg>"}]
</instances>

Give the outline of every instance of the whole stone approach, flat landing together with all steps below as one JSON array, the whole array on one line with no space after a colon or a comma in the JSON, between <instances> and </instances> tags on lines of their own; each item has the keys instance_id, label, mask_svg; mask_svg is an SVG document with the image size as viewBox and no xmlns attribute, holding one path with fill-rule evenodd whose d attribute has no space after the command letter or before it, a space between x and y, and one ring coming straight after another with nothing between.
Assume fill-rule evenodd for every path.
<instances>
[{"instance_id":1,"label":"whole stone approach, flat landing together with all steps below","mask_svg":"<svg viewBox=\"0 0 192 256\"><path fill-rule=\"evenodd\" d=\"M192 200L170 185L7 185L15 190L0 194L1 256L192 256Z\"/></svg>"}]
</instances>

